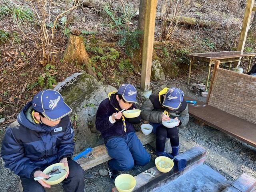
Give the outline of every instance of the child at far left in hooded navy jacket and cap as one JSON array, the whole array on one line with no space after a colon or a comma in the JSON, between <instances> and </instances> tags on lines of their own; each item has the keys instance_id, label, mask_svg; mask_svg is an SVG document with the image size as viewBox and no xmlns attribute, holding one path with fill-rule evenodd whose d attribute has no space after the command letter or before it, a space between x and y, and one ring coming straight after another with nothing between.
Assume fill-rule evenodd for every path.
<instances>
[{"instance_id":1,"label":"child at far left in hooded navy jacket and cap","mask_svg":"<svg viewBox=\"0 0 256 192\"><path fill-rule=\"evenodd\" d=\"M59 92L42 90L19 113L18 125L7 127L1 156L5 167L20 176L24 192L44 192L50 188L42 179L42 171L55 163L68 166L64 179L65 191L84 191L84 171L71 159L74 133L68 114L71 108Z\"/></svg>"}]
</instances>

